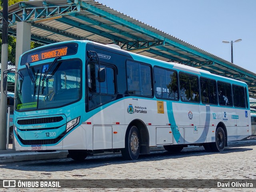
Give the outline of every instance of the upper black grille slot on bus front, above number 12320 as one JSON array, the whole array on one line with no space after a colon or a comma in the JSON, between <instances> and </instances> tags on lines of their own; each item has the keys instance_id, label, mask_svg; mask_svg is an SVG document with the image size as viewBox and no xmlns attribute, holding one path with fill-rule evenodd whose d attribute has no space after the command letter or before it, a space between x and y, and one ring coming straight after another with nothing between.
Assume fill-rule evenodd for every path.
<instances>
[{"instance_id":1,"label":"upper black grille slot on bus front, above number 12320","mask_svg":"<svg viewBox=\"0 0 256 192\"><path fill-rule=\"evenodd\" d=\"M19 125L33 125L33 124L44 124L44 123L55 123L63 120L63 117L45 117L38 119L21 119L18 120L17 123Z\"/></svg>"}]
</instances>

